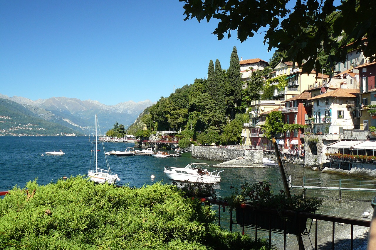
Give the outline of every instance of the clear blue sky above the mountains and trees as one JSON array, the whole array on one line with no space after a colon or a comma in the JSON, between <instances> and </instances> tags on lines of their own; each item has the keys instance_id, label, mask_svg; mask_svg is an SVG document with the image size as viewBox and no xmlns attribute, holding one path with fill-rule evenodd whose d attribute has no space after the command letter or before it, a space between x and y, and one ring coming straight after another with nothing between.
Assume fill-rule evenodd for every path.
<instances>
[{"instance_id":1,"label":"clear blue sky above the mountains and trees","mask_svg":"<svg viewBox=\"0 0 376 250\"><path fill-rule=\"evenodd\" d=\"M183 13L178 0L0 1L0 93L158 101L206 78L210 60L227 69L233 46L243 59L274 52L263 34L218 41L215 20L183 21Z\"/></svg>"}]
</instances>

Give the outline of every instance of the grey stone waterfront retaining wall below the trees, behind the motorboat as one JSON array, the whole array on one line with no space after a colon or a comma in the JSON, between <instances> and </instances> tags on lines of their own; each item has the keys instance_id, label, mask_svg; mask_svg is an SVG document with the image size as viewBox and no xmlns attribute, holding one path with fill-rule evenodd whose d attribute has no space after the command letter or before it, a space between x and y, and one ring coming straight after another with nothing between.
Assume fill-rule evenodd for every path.
<instances>
[{"instance_id":1,"label":"grey stone waterfront retaining wall below the trees, behind the motorboat","mask_svg":"<svg viewBox=\"0 0 376 250\"><path fill-rule=\"evenodd\" d=\"M246 157L252 159L253 164L262 164L261 150L193 146L192 157L212 161L229 161L238 157Z\"/></svg>"}]
</instances>

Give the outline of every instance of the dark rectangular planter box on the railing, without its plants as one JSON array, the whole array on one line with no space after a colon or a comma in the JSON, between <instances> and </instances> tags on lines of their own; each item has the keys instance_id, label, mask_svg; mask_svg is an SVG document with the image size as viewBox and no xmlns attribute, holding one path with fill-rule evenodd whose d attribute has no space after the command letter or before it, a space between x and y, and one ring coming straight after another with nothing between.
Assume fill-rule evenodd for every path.
<instances>
[{"instance_id":1,"label":"dark rectangular planter box on the railing, without its plants","mask_svg":"<svg viewBox=\"0 0 376 250\"><path fill-rule=\"evenodd\" d=\"M243 221L244 212L244 221ZM252 206L236 209L237 224L252 225L259 229L273 230L280 233L300 234L306 232L307 218L281 216L276 209L255 209Z\"/></svg>"}]
</instances>

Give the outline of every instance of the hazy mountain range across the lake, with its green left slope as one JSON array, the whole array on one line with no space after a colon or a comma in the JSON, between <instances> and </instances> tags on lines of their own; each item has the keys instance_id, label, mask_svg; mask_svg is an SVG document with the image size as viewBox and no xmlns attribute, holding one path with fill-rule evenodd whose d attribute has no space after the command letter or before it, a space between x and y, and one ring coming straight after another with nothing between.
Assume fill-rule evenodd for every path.
<instances>
[{"instance_id":1,"label":"hazy mountain range across the lake, with its green left slope","mask_svg":"<svg viewBox=\"0 0 376 250\"><path fill-rule=\"evenodd\" d=\"M5 102L5 100L8 101ZM123 124L126 128L129 127L129 125L136 120L138 115L151 105L153 105L153 103L150 100L141 102L127 101L116 105L105 105L90 99L81 101L77 98L52 97L32 101L20 96L9 97L0 94L0 108L2 110L0 113L0 134L14 134L13 132L16 132L12 131L12 126L10 126L9 123L14 117L7 115L7 113L10 115L18 115L19 117L21 117L22 113L25 117L42 119L51 122L51 124L57 123L76 131L76 134L95 133L94 119L95 114L97 114L101 132L104 134L107 130L111 129L116 122ZM14 113L15 110L17 110L16 113ZM3 116L9 116L11 119L5 119ZM22 120L19 122L22 123ZM17 123L17 126L27 125L21 123ZM47 123L43 124L46 125ZM49 126L51 126L51 124ZM11 129L11 133L5 133L4 130L7 130L6 128ZM53 134L59 134L59 129L55 132L56 133Z\"/></svg>"}]
</instances>

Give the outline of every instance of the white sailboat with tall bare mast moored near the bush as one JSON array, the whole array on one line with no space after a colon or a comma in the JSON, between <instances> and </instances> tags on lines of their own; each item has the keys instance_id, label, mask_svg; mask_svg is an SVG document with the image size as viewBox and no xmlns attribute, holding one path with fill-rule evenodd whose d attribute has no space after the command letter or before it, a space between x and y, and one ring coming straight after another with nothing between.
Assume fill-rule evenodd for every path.
<instances>
[{"instance_id":1,"label":"white sailboat with tall bare mast moored near the bush","mask_svg":"<svg viewBox=\"0 0 376 250\"><path fill-rule=\"evenodd\" d=\"M95 170L89 170L88 176L91 181L97 183L108 183L115 184L117 181L120 181L118 175L114 175L111 172L110 166L106 158L107 170L98 168L98 143L97 143L97 115L95 115ZM103 142L102 142L103 143ZM107 157L105 155L105 157Z\"/></svg>"}]
</instances>

